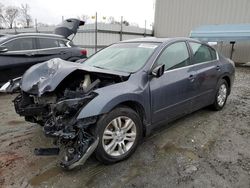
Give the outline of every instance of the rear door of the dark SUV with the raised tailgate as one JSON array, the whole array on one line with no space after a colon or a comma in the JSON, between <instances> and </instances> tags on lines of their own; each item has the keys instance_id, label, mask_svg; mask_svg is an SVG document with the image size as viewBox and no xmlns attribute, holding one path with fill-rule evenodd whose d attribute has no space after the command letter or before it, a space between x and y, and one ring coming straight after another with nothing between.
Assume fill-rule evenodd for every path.
<instances>
[{"instance_id":1,"label":"rear door of the dark SUV with the raised tailgate","mask_svg":"<svg viewBox=\"0 0 250 188\"><path fill-rule=\"evenodd\" d=\"M39 37L36 40L39 62L48 61L53 58L67 60L72 56L72 52L67 47L66 40L49 37Z\"/></svg>"}]
</instances>

